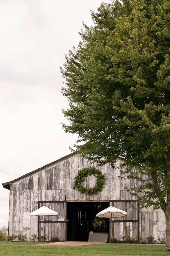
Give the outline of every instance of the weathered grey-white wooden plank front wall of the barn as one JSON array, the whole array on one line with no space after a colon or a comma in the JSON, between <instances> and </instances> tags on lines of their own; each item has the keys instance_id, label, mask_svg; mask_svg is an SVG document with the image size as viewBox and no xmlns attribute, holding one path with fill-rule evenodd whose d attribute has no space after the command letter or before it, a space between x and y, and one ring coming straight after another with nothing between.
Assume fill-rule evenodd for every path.
<instances>
[{"instance_id":1,"label":"weathered grey-white wooden plank front wall of the barn","mask_svg":"<svg viewBox=\"0 0 170 256\"><path fill-rule=\"evenodd\" d=\"M107 180L105 188L90 197L73 189L78 170L92 166L77 153L65 156L16 180L3 183L4 188L10 189L9 235L27 234L27 237L31 237L32 234L37 235L38 231L42 235L41 217L38 220L38 217L30 217L29 214L45 203L45 206L59 213L59 216L46 217L46 234L49 240L57 236L61 241L65 241L67 202L105 201L128 213L127 217L115 219L114 237L118 240L126 234L132 237L140 235L144 242L150 235L157 241L159 237L165 237L165 216L161 209L153 210L150 207L137 211L131 207L131 204L137 206L135 198L126 193L124 187L138 186L138 183L135 180L118 179L119 165L120 160L117 160L114 169L109 164L97 167L102 173L106 173ZM96 164L93 166L96 167ZM89 176L83 185L86 188L93 187L95 181L94 176Z\"/></svg>"}]
</instances>

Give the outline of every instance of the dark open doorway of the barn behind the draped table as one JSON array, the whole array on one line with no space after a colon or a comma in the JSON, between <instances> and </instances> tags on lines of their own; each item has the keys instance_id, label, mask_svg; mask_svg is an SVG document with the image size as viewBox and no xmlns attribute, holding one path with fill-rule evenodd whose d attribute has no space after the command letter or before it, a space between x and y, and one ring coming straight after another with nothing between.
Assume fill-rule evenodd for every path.
<instances>
[{"instance_id":1,"label":"dark open doorway of the barn behind the draped table","mask_svg":"<svg viewBox=\"0 0 170 256\"><path fill-rule=\"evenodd\" d=\"M109 206L108 202L67 203L67 241L88 241L93 231L92 220L96 214ZM109 220L104 232L109 233Z\"/></svg>"}]
</instances>

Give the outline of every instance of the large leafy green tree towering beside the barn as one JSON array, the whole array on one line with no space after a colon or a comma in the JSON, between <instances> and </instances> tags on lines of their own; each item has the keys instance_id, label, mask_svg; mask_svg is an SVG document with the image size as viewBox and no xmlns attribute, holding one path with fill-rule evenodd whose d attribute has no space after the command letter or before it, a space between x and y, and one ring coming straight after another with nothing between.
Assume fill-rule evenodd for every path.
<instances>
[{"instance_id":1,"label":"large leafy green tree towering beside the barn","mask_svg":"<svg viewBox=\"0 0 170 256\"><path fill-rule=\"evenodd\" d=\"M121 173L140 181L127 190L164 211L170 251L170 1L115 0L91 14L61 69L63 128L90 160L122 159Z\"/></svg>"}]
</instances>

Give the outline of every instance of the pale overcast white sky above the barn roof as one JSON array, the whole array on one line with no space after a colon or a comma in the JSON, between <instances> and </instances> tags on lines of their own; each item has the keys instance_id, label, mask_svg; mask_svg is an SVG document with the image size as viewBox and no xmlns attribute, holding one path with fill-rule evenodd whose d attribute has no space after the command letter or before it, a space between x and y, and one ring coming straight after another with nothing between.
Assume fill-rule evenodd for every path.
<instances>
[{"instance_id":1,"label":"pale overcast white sky above the barn roof","mask_svg":"<svg viewBox=\"0 0 170 256\"><path fill-rule=\"evenodd\" d=\"M60 66L77 46L82 21L109 0L0 1L0 183L70 154ZM8 226L9 190L0 184L0 227Z\"/></svg>"}]
</instances>

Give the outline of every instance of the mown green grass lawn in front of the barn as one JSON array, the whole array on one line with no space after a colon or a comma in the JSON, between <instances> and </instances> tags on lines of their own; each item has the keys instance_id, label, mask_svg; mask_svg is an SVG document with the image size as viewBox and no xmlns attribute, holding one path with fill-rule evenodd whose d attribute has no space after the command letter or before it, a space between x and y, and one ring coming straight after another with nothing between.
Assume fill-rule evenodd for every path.
<instances>
[{"instance_id":1,"label":"mown green grass lawn in front of the barn","mask_svg":"<svg viewBox=\"0 0 170 256\"><path fill-rule=\"evenodd\" d=\"M127 256L170 255L159 244L94 244L87 246L31 246L43 242L0 242L1 256ZM47 242L46 242L47 243Z\"/></svg>"}]
</instances>

